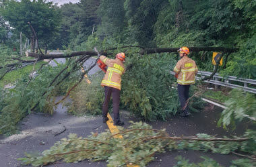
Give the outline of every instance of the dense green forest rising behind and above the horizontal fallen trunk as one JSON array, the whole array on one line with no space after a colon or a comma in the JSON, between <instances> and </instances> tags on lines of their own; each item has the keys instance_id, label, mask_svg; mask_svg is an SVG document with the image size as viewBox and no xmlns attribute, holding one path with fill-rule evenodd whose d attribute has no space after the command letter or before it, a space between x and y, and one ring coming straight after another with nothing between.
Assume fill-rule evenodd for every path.
<instances>
[{"instance_id":1,"label":"dense green forest rising behind and above the horizontal fallen trunk","mask_svg":"<svg viewBox=\"0 0 256 167\"><path fill-rule=\"evenodd\" d=\"M1 42L9 42L11 47L18 48L18 44L7 38L10 31L15 34L14 41L20 32L34 40L30 21L41 48L51 50L88 50L97 43L102 48L117 45L239 48L228 57L225 72L256 77L255 1L82 0L61 7L44 1L0 3ZM192 56L201 68L210 70L207 56L203 61L200 53Z\"/></svg>"}]
</instances>

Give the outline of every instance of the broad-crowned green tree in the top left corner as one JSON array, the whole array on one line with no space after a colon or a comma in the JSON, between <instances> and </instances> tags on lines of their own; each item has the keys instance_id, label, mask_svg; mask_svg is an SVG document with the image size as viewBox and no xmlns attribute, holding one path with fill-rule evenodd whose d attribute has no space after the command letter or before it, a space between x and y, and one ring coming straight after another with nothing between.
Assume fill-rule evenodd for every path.
<instances>
[{"instance_id":1,"label":"broad-crowned green tree in the top left corner","mask_svg":"<svg viewBox=\"0 0 256 167\"><path fill-rule=\"evenodd\" d=\"M57 5L52 2L46 3L44 0L20 2L7 1L1 10L3 18L9 22L19 32L23 32L31 40L32 50L34 50L35 36L30 30L28 22L32 24L38 38L47 45L55 34L59 31L61 15Z\"/></svg>"}]
</instances>

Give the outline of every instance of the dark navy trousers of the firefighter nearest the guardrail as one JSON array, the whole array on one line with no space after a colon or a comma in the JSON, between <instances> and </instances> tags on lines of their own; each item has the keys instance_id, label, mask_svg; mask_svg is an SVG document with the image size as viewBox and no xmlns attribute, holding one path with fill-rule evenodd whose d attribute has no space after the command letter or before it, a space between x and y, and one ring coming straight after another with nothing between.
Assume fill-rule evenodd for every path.
<instances>
[{"instance_id":1,"label":"dark navy trousers of the firefighter nearest the guardrail","mask_svg":"<svg viewBox=\"0 0 256 167\"><path fill-rule=\"evenodd\" d=\"M181 102L181 110L186 105L187 99L189 99L189 87L190 85L179 85L178 84L178 93ZM188 106L183 111L189 111Z\"/></svg>"}]
</instances>

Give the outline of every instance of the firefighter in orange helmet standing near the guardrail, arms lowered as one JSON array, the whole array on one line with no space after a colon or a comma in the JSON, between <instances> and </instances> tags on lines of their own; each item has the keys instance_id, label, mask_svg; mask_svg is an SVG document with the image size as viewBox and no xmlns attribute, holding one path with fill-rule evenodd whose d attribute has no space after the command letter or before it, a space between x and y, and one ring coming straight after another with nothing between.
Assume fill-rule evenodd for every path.
<instances>
[{"instance_id":1,"label":"firefighter in orange helmet standing near the guardrail, arms lowered","mask_svg":"<svg viewBox=\"0 0 256 167\"><path fill-rule=\"evenodd\" d=\"M191 115L187 107L187 99L189 99L189 87L195 84L195 75L198 72L195 61L189 58L189 48L182 47L178 50L181 59L177 62L173 71L178 82L178 93L181 102L181 113L182 117Z\"/></svg>"}]
</instances>

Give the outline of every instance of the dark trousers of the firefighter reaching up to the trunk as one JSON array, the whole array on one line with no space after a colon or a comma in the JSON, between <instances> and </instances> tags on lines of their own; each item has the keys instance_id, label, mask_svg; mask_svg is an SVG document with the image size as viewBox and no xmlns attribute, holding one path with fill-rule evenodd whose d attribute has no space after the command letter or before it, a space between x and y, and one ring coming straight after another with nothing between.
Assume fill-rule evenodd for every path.
<instances>
[{"instance_id":1,"label":"dark trousers of the firefighter reaching up to the trunk","mask_svg":"<svg viewBox=\"0 0 256 167\"><path fill-rule=\"evenodd\" d=\"M105 90L105 100L102 106L102 116L106 117L108 114L108 103L110 101L111 94L113 98L113 113L114 113L114 121L119 121L119 103L120 103L120 90L113 88L113 87L107 87L104 86Z\"/></svg>"}]
</instances>

